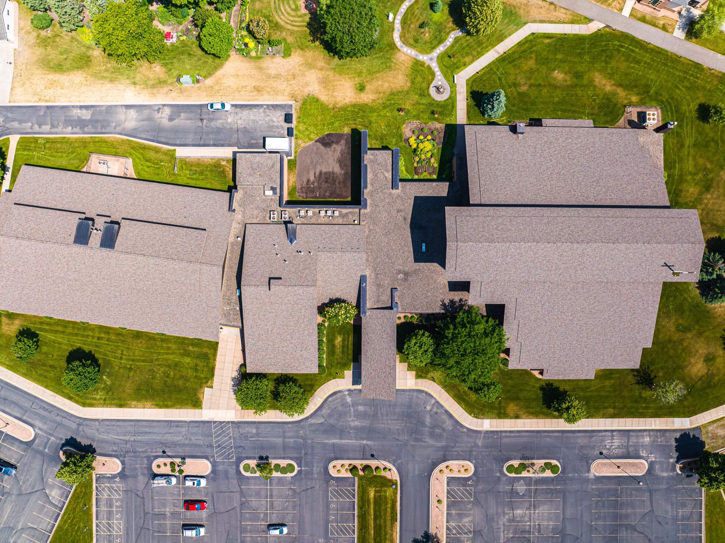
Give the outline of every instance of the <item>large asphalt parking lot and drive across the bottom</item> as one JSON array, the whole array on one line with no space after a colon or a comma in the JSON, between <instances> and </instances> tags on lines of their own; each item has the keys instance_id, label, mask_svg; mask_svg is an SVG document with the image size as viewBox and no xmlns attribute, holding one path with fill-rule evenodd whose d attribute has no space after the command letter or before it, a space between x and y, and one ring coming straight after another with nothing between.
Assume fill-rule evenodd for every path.
<instances>
[{"instance_id":1,"label":"large asphalt parking lot and drive across the bottom","mask_svg":"<svg viewBox=\"0 0 725 543\"><path fill-rule=\"evenodd\" d=\"M392 462L401 476L403 543L428 529L431 470L447 460L470 460L476 468L471 478L450 482L450 543L529 541L531 534L537 542L561 543L701 540L700 489L695 478L675 471L676 457L692 455L701 444L699 430L472 431L423 391L398 391L395 402L341 391L296 423L83 420L8 384L0 385L0 397L2 410L36 429L30 444L7 436L0 443L0 456L18 466L17 476L1 481L7 485L0 486L2 542L47 542L45 532L57 518L52 508L59 510L68 492L53 479L58 449L71 437L124 465L117 476L96 479L98 526L110 532L99 534L99 543L181 541L167 534L178 534L181 522L193 518L179 511L190 497L210 503L199 515L210 532L206 542L268 542L275 539L262 535L268 522L287 523L287 539L294 542L352 542L344 525L354 525L346 518L355 506L341 500L349 491L338 488L352 480L333 481L327 466L370 454ZM162 449L211 460L210 486L150 488L150 464ZM600 451L648 460L643 485L592 476L589 467ZM239 464L257 455L294 460L299 472L273 478L269 487L262 478L242 476ZM504 463L523 458L557 459L562 472L536 480L505 476Z\"/></svg>"}]
</instances>

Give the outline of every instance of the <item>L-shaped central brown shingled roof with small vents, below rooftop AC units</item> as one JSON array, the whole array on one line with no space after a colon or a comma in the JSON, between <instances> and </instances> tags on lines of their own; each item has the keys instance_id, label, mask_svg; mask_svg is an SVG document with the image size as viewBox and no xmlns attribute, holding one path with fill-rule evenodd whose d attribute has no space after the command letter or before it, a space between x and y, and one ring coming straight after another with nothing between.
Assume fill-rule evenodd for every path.
<instances>
[{"instance_id":1,"label":"L-shaped central brown shingled roof with small vents, below rooftop AC units","mask_svg":"<svg viewBox=\"0 0 725 543\"><path fill-rule=\"evenodd\" d=\"M317 308L355 303L365 274L365 228L297 224L289 244L283 224L247 224L241 308L247 370L318 370Z\"/></svg>"}]
</instances>

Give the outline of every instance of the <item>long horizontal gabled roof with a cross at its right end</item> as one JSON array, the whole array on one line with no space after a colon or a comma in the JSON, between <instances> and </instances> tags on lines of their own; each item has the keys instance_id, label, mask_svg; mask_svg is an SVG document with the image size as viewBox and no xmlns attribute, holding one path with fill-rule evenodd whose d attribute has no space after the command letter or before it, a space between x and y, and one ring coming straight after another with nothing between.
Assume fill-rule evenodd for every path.
<instances>
[{"instance_id":1,"label":"long horizontal gabled roof with a cross at its right end","mask_svg":"<svg viewBox=\"0 0 725 543\"><path fill-rule=\"evenodd\" d=\"M448 207L446 218L449 281L695 281L703 257L697 210Z\"/></svg>"}]
</instances>

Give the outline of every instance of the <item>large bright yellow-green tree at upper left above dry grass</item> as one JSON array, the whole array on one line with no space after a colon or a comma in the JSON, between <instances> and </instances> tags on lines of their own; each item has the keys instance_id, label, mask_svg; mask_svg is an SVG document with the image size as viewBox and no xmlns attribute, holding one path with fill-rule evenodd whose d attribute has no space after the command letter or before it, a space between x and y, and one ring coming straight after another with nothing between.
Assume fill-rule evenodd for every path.
<instances>
[{"instance_id":1,"label":"large bright yellow-green tree at upper left above dry grass","mask_svg":"<svg viewBox=\"0 0 725 543\"><path fill-rule=\"evenodd\" d=\"M96 15L94 41L119 64L133 65L138 59L154 62L161 56L164 33L154 28L154 16L146 4L136 0L112 1Z\"/></svg>"}]
</instances>

